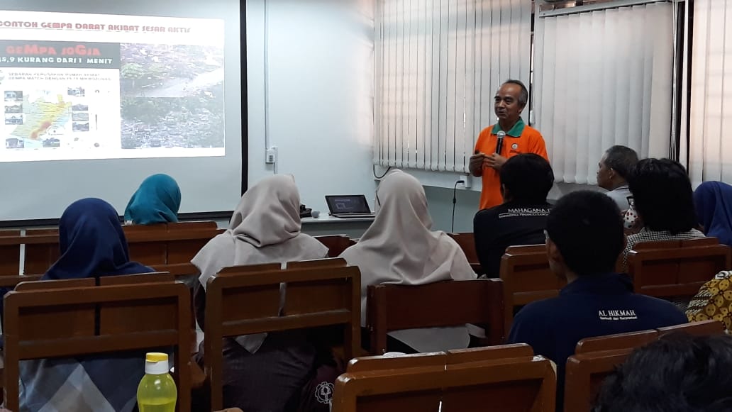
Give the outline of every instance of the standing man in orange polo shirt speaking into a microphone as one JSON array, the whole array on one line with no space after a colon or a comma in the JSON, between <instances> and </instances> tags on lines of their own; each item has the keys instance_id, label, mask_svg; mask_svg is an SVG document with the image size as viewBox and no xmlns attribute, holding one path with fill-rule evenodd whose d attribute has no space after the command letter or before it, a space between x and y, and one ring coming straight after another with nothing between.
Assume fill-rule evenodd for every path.
<instances>
[{"instance_id":1,"label":"standing man in orange polo shirt speaking into a microphone","mask_svg":"<svg viewBox=\"0 0 732 412\"><path fill-rule=\"evenodd\" d=\"M498 171L509 157L534 153L549 160L544 138L538 130L527 126L521 112L529 102L529 90L520 80L506 80L498 89L494 111L498 123L486 127L475 143L475 154L470 157L470 173L482 176L480 209L489 209L503 203ZM498 134L504 136L498 147Z\"/></svg>"}]
</instances>

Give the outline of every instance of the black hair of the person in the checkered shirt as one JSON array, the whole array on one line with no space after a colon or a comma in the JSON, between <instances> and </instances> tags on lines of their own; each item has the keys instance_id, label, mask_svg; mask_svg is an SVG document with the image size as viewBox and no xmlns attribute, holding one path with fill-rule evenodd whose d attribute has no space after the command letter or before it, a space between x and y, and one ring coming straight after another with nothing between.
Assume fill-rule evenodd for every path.
<instances>
[{"instance_id":1,"label":"black hair of the person in the checkered shirt","mask_svg":"<svg viewBox=\"0 0 732 412\"><path fill-rule=\"evenodd\" d=\"M643 159L628 178L635 209L651 231L690 231L698 221L687 171L669 159Z\"/></svg>"}]
</instances>

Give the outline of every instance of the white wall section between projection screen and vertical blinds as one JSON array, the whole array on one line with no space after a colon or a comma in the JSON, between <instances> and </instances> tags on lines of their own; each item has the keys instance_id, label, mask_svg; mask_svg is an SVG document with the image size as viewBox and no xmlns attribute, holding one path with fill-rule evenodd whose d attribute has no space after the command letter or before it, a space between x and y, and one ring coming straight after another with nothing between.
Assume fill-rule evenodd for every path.
<instances>
[{"instance_id":1,"label":"white wall section between projection screen and vertical blinds","mask_svg":"<svg viewBox=\"0 0 732 412\"><path fill-rule=\"evenodd\" d=\"M269 144L278 148L277 173L292 173L302 203L313 209L326 212L329 194L364 193L372 201L369 3L247 0L250 185L275 171L264 163L266 14Z\"/></svg>"}]
</instances>

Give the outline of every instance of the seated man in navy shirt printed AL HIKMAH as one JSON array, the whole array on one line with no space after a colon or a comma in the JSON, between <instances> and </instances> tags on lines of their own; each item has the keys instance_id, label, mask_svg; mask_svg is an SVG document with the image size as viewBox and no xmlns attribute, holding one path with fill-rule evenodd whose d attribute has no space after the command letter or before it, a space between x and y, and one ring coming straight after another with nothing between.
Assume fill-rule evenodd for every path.
<instances>
[{"instance_id":1,"label":"seated man in navy shirt printed AL HIKMAH","mask_svg":"<svg viewBox=\"0 0 732 412\"><path fill-rule=\"evenodd\" d=\"M556 298L523 307L508 341L528 343L534 353L556 362L558 411L563 405L564 365L577 342L687 322L673 304L633 293L630 277L614 272L624 239L618 206L600 192L569 193L549 214L549 266L567 286Z\"/></svg>"}]
</instances>

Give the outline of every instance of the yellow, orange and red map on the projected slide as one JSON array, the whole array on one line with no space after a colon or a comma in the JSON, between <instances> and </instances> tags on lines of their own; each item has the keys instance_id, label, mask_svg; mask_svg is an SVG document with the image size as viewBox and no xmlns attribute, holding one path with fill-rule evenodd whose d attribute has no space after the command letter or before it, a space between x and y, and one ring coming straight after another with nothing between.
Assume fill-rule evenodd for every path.
<instances>
[{"instance_id":1,"label":"yellow, orange and red map on the projected slide","mask_svg":"<svg viewBox=\"0 0 732 412\"><path fill-rule=\"evenodd\" d=\"M23 99L23 124L18 124L10 135L30 141L40 141L51 130L63 130L71 120L71 102L63 94L48 91L26 94ZM57 132L58 133L58 132Z\"/></svg>"}]
</instances>

